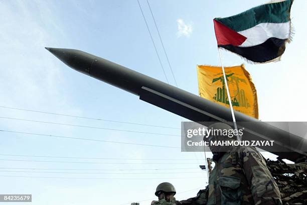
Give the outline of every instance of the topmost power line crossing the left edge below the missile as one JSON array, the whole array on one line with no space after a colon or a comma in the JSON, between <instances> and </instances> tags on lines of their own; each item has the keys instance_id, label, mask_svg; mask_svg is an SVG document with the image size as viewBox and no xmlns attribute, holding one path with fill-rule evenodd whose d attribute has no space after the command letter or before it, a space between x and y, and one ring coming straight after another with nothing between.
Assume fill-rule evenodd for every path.
<instances>
[{"instance_id":1,"label":"topmost power line crossing the left edge below the missile","mask_svg":"<svg viewBox=\"0 0 307 205\"><path fill-rule=\"evenodd\" d=\"M141 125L141 126L148 126L148 127L169 128L169 129L180 130L180 128L174 128L174 127L166 127L166 126L159 126L159 125L148 125L148 124L131 123L131 122L123 122L123 121L114 121L114 120L106 120L106 119L100 119L100 118L88 118L88 117L81 117L81 116L74 116L74 115L67 115L67 114L49 113L49 112L36 111L36 110L12 108L12 107L6 107L6 106L0 106L0 108L19 110L19 111L28 111L28 112L34 112L34 113L44 113L44 114L58 115L58 116L66 116L66 117L73 117L73 118L81 118L81 119L88 119L88 120L106 121L106 122L112 122L112 123L123 123L123 124L130 124L130 125Z\"/></svg>"}]
</instances>

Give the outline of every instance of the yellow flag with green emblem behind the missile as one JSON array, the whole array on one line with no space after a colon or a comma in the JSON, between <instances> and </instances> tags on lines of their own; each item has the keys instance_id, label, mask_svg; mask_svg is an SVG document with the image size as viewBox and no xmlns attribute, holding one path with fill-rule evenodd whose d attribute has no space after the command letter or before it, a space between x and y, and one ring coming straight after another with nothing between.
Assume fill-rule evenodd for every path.
<instances>
[{"instance_id":1,"label":"yellow flag with green emblem behind the missile","mask_svg":"<svg viewBox=\"0 0 307 205\"><path fill-rule=\"evenodd\" d=\"M233 109L258 119L256 88L244 64L224 68ZM197 77L201 97L229 108L221 67L197 65Z\"/></svg>"}]
</instances>

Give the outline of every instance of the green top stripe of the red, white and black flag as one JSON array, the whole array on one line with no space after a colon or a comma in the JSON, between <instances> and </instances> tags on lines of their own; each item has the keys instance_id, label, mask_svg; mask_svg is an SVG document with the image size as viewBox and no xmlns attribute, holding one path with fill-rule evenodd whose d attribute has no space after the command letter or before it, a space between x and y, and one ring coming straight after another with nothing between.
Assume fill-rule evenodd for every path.
<instances>
[{"instance_id":1,"label":"green top stripe of the red, white and black flag","mask_svg":"<svg viewBox=\"0 0 307 205\"><path fill-rule=\"evenodd\" d=\"M215 20L232 30L239 32L261 23L284 23L289 21L291 5L292 0L265 4L254 7L235 16L216 18Z\"/></svg>"}]
</instances>

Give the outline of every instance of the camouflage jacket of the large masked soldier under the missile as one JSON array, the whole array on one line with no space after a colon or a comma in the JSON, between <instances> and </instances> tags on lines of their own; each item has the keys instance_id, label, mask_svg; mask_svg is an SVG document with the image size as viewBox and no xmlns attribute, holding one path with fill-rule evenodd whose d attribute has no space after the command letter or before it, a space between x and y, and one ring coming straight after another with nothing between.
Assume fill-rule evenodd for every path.
<instances>
[{"instance_id":1,"label":"camouflage jacket of the large masked soldier under the missile","mask_svg":"<svg viewBox=\"0 0 307 205\"><path fill-rule=\"evenodd\" d=\"M207 204L282 203L262 155L253 147L236 147L215 162Z\"/></svg>"}]
</instances>

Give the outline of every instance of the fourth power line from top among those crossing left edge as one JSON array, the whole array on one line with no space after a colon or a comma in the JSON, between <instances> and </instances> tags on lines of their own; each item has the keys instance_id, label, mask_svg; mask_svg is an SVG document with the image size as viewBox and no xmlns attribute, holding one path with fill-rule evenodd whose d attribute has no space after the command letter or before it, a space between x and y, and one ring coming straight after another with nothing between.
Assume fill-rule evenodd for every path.
<instances>
[{"instance_id":1,"label":"fourth power line from top among those crossing left edge","mask_svg":"<svg viewBox=\"0 0 307 205\"><path fill-rule=\"evenodd\" d=\"M105 157L98 157L98 158L92 158L92 157L63 157L63 156L46 156L46 155L17 155L17 154L0 154L0 156L15 156L15 157L47 157L47 158L70 158L70 159L111 159L111 160L180 160L180 161L185 161L185 160L195 160L195 159L165 159L165 158L105 158Z\"/></svg>"}]
</instances>

